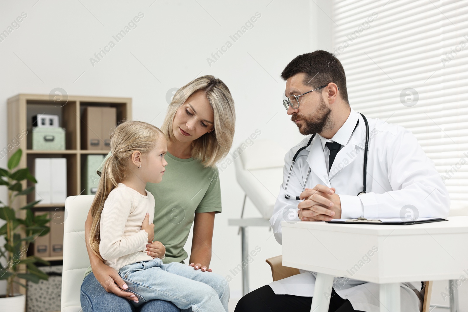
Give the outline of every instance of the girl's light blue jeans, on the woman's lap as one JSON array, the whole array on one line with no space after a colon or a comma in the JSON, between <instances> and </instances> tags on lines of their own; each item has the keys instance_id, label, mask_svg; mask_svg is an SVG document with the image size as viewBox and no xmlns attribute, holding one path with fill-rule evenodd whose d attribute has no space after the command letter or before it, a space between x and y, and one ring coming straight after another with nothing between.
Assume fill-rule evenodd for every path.
<instances>
[{"instance_id":1,"label":"girl's light blue jeans, on the woman's lap","mask_svg":"<svg viewBox=\"0 0 468 312\"><path fill-rule=\"evenodd\" d=\"M138 304L132 302L136 307L160 299L182 310L228 312L229 285L218 274L179 262L164 264L159 258L126 265L118 273L138 297Z\"/></svg>"}]
</instances>

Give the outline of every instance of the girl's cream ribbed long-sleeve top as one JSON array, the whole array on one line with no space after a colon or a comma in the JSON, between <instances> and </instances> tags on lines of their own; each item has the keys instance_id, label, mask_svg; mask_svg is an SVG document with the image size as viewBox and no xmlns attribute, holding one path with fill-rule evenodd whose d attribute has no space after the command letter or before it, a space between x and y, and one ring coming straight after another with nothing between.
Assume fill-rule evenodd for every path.
<instances>
[{"instance_id":1,"label":"girl's cream ribbed long-sleeve top","mask_svg":"<svg viewBox=\"0 0 468 312\"><path fill-rule=\"evenodd\" d=\"M141 229L146 212L150 223L154 219L154 196L145 191L146 196L118 183L104 202L99 252L117 271L127 264L153 259L146 254L148 234Z\"/></svg>"}]
</instances>

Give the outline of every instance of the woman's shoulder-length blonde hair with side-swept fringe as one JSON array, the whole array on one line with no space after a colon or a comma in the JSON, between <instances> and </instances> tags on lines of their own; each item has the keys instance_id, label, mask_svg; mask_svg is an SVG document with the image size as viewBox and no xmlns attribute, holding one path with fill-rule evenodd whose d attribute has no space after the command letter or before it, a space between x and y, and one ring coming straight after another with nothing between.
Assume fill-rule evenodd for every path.
<instances>
[{"instance_id":1,"label":"woman's shoulder-length blonde hair with side-swept fringe","mask_svg":"<svg viewBox=\"0 0 468 312\"><path fill-rule=\"evenodd\" d=\"M174 139L172 123L179 107L195 92L202 91L213 109L214 128L192 142L192 157L205 167L215 167L233 144L235 111L234 100L226 84L212 75L198 77L177 90L169 104L161 131Z\"/></svg>"}]
</instances>

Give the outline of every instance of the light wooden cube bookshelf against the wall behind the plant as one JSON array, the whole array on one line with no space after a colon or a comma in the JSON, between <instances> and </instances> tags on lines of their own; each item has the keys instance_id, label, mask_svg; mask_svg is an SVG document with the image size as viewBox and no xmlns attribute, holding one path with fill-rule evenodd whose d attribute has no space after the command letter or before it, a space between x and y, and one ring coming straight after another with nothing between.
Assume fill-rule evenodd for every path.
<instances>
[{"instance_id":1,"label":"light wooden cube bookshelf against the wall behind the plant","mask_svg":"<svg viewBox=\"0 0 468 312\"><path fill-rule=\"evenodd\" d=\"M86 150L82 149L81 124L82 114L85 107L114 107L117 109L117 123L122 120L132 120L132 99L118 97L98 97L98 96L75 96L68 95L64 101L54 102L49 94L17 94L7 100L7 144L12 146L8 151L9 158L18 148L21 148L23 155L19 168L34 166L37 157L63 157L67 160L67 196L80 195L83 191L81 187L81 167L84 156L88 154L107 154L109 150ZM28 135L32 135L32 116L36 114L59 115L59 126L66 130L66 149L61 151L41 151L33 150L29 146ZM21 140L17 135L25 133ZM9 148L8 148L9 149ZM31 174L35 175L31 170ZM40 176L36 176L40 180ZM22 181L23 189L32 186L34 183ZM13 207L22 207L26 203L35 200L34 192L28 196L20 196L12 204ZM64 203L41 204L34 206L33 210L47 211L65 207ZM24 217L24 211L18 213ZM44 257L47 261L61 261L62 257ZM22 283L25 283L23 280ZM24 288L21 292L25 294Z\"/></svg>"}]
</instances>

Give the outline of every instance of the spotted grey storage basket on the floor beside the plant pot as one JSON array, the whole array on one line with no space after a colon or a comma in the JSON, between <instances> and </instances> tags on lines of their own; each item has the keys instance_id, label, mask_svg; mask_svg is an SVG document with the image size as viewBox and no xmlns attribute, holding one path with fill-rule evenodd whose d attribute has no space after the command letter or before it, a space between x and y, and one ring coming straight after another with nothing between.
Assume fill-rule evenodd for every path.
<instances>
[{"instance_id":1,"label":"spotted grey storage basket on the floor beside the plant pot","mask_svg":"<svg viewBox=\"0 0 468 312\"><path fill-rule=\"evenodd\" d=\"M62 292L62 266L38 267L49 276L39 283L28 281L28 312L60 311Z\"/></svg>"}]
</instances>

